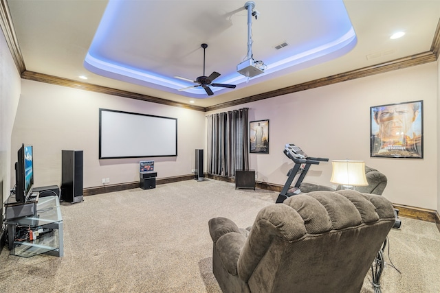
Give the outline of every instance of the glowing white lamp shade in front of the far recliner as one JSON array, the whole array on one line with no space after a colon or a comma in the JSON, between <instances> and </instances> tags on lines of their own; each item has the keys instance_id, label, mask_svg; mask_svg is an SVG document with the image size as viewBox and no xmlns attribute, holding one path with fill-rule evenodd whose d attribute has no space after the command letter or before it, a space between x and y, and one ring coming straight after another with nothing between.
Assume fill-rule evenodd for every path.
<instances>
[{"instance_id":1,"label":"glowing white lamp shade in front of the far recliner","mask_svg":"<svg viewBox=\"0 0 440 293\"><path fill-rule=\"evenodd\" d=\"M331 174L331 183L351 186L368 185L365 176L364 161L332 161L333 173Z\"/></svg>"}]
</instances>

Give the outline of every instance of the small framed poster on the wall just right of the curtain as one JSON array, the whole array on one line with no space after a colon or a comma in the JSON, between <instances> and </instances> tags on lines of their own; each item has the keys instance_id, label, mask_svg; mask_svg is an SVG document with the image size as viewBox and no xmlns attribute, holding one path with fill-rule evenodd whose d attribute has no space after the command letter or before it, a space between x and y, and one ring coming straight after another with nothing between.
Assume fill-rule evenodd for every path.
<instances>
[{"instance_id":1,"label":"small framed poster on the wall just right of the curtain","mask_svg":"<svg viewBox=\"0 0 440 293\"><path fill-rule=\"evenodd\" d=\"M269 120L250 121L249 147L252 154L269 154Z\"/></svg>"}]
</instances>

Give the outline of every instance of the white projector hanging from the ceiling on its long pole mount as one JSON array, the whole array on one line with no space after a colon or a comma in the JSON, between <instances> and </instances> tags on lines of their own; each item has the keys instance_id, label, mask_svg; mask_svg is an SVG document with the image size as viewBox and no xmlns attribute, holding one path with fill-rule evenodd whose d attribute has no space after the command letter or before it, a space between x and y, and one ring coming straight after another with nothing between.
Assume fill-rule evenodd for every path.
<instances>
[{"instance_id":1,"label":"white projector hanging from the ceiling on its long pole mount","mask_svg":"<svg viewBox=\"0 0 440 293\"><path fill-rule=\"evenodd\" d=\"M252 16L255 16L255 19L257 19L258 16L260 16L260 12L254 9L254 1L246 2L245 8L248 10L248 56L246 60L236 66L236 72L245 75L248 78L253 78L256 75L264 73L267 66L261 60L255 61L252 56Z\"/></svg>"}]
</instances>

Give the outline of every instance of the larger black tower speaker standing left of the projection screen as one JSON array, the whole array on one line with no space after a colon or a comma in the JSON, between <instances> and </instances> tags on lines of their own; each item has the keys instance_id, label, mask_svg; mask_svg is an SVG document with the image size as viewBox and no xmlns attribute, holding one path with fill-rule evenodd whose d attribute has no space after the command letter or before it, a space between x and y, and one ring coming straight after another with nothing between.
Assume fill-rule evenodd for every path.
<instances>
[{"instance_id":1,"label":"larger black tower speaker standing left of the projection screen","mask_svg":"<svg viewBox=\"0 0 440 293\"><path fill-rule=\"evenodd\" d=\"M61 200L83 201L83 151L63 150L61 173Z\"/></svg>"}]
</instances>

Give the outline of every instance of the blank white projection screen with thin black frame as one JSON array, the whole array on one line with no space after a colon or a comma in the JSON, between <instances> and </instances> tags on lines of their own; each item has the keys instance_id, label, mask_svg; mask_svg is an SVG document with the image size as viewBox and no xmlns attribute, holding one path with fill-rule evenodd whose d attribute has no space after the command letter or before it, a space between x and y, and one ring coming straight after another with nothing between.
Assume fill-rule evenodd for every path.
<instances>
[{"instance_id":1,"label":"blank white projection screen with thin black frame","mask_svg":"<svg viewBox=\"0 0 440 293\"><path fill-rule=\"evenodd\" d=\"M99 109L99 159L177 156L177 119Z\"/></svg>"}]
</instances>

